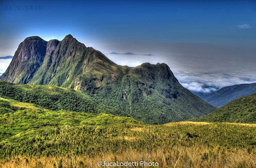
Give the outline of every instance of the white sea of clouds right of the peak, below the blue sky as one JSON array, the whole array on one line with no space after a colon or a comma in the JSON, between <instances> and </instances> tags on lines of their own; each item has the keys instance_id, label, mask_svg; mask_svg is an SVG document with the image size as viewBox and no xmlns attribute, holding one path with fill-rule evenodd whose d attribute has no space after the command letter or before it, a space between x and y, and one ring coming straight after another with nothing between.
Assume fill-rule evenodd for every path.
<instances>
[{"instance_id":1,"label":"white sea of clouds right of the peak, below the blue sky","mask_svg":"<svg viewBox=\"0 0 256 168\"><path fill-rule=\"evenodd\" d=\"M256 60L247 57L177 55L111 55L119 65L138 66L144 62L166 63L182 86L196 95L212 93L225 86L256 82Z\"/></svg>"}]
</instances>

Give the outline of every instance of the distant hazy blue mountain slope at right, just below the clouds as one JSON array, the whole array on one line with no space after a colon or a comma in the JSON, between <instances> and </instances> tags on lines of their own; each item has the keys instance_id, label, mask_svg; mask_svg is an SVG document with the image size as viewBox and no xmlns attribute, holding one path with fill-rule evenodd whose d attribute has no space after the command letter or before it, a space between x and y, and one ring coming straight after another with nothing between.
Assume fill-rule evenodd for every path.
<instances>
[{"instance_id":1,"label":"distant hazy blue mountain slope at right, just below the clouds","mask_svg":"<svg viewBox=\"0 0 256 168\"><path fill-rule=\"evenodd\" d=\"M256 83L244 83L221 88L213 93L200 95L207 103L221 107L236 98L256 93Z\"/></svg>"}]
</instances>

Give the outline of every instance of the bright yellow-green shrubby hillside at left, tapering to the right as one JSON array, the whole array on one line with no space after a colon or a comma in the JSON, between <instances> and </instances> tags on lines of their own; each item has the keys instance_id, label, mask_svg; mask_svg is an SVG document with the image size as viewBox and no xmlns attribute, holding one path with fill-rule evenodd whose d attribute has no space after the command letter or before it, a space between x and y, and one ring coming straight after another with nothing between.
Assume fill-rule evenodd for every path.
<instances>
[{"instance_id":1,"label":"bright yellow-green shrubby hillside at left, tapering to the right","mask_svg":"<svg viewBox=\"0 0 256 168\"><path fill-rule=\"evenodd\" d=\"M22 103L0 98L0 141L30 129L47 129L49 126L107 125L112 123L140 123L130 117L106 113L52 111L38 108L31 103Z\"/></svg>"}]
</instances>

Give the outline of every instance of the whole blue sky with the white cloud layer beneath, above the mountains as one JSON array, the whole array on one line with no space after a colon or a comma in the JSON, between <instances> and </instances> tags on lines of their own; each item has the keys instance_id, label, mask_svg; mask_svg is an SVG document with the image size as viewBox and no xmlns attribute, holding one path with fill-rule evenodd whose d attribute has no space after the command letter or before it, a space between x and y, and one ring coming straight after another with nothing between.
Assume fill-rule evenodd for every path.
<instances>
[{"instance_id":1,"label":"whole blue sky with the white cloud layer beneath, above the mountains","mask_svg":"<svg viewBox=\"0 0 256 168\"><path fill-rule=\"evenodd\" d=\"M256 82L253 0L1 0L0 22L0 57L13 56L28 36L72 34L120 65L165 62L197 94Z\"/></svg>"}]
</instances>

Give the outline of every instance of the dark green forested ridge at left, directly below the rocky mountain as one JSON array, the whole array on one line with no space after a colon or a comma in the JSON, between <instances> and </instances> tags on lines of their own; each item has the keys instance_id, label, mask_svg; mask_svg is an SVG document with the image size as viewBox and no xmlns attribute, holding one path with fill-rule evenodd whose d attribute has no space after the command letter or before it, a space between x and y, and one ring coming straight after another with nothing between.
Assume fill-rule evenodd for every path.
<instances>
[{"instance_id":1,"label":"dark green forested ridge at left, directly below the rocky mountain","mask_svg":"<svg viewBox=\"0 0 256 168\"><path fill-rule=\"evenodd\" d=\"M23 103L33 103L49 110L68 110L87 113L110 113L128 116L123 111L94 101L90 96L70 88L43 85L16 85L0 81L0 97Z\"/></svg>"}]
</instances>

